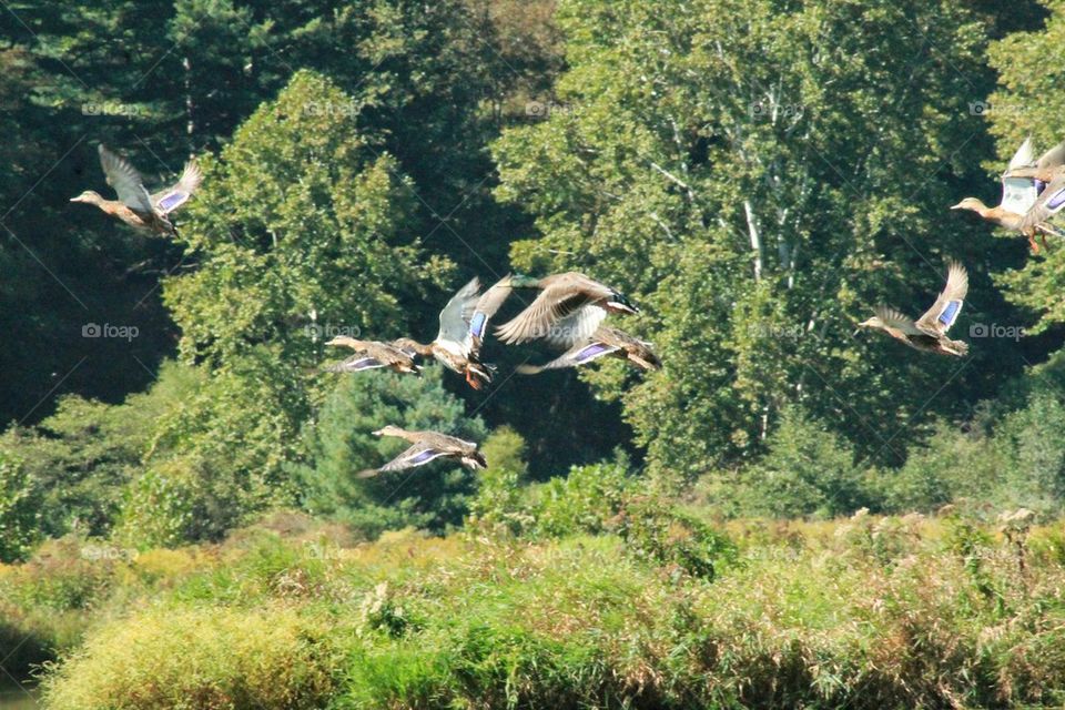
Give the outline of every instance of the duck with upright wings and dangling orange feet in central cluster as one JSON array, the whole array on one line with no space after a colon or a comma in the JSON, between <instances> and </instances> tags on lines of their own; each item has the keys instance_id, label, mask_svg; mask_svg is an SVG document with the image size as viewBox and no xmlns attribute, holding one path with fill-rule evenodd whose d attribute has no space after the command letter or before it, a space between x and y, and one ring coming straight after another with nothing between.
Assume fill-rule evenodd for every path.
<instances>
[{"instance_id":1,"label":"duck with upright wings and dangling orange feet in central cluster","mask_svg":"<svg viewBox=\"0 0 1065 710\"><path fill-rule=\"evenodd\" d=\"M423 344L405 337L394 345L408 348L423 357L433 356L445 367L466 376L474 389L491 382L493 365L480 362L480 347L488 321L510 293L510 277L480 294L476 276L458 290L440 311L440 329L436 339Z\"/></svg>"}]
</instances>

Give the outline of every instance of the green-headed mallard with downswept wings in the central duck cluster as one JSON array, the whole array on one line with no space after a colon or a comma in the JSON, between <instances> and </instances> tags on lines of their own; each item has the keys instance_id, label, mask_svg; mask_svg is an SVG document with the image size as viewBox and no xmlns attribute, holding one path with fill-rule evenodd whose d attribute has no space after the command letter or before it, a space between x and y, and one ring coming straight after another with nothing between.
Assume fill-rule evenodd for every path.
<instances>
[{"instance_id":1,"label":"green-headed mallard with downswept wings in the central duck cluster","mask_svg":"<svg viewBox=\"0 0 1065 710\"><path fill-rule=\"evenodd\" d=\"M617 290L577 272L532 278L520 274L509 278L515 288L539 288L525 311L496 328L509 345L545 338L569 346L590 337L608 313L639 313Z\"/></svg>"}]
</instances>

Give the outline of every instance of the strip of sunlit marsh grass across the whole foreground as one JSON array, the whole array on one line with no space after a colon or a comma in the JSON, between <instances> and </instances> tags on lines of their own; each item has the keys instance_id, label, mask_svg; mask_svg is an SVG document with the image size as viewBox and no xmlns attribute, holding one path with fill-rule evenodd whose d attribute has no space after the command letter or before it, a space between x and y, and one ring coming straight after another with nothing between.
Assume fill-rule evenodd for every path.
<instances>
[{"instance_id":1,"label":"strip of sunlit marsh grass across the whole foreground","mask_svg":"<svg viewBox=\"0 0 1065 710\"><path fill-rule=\"evenodd\" d=\"M7 638L30 638L21 672L59 652L38 673L63 710L1065 702L1061 524L727 534L657 538L709 545L711 568L635 535L354 544L280 515L216 546L53 542L0 567L0 599Z\"/></svg>"}]
</instances>

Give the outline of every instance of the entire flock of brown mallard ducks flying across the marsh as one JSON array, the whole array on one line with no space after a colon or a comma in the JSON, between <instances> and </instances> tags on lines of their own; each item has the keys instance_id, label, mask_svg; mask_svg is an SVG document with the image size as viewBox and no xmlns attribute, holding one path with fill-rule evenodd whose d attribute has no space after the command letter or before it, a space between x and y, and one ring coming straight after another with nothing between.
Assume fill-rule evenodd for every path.
<instances>
[{"instance_id":1,"label":"entire flock of brown mallard ducks flying across the marsh","mask_svg":"<svg viewBox=\"0 0 1065 710\"><path fill-rule=\"evenodd\" d=\"M192 160L185 164L176 183L150 193L141 174L125 159L102 144L99 153L106 182L119 199L104 200L90 190L71 202L97 205L143 233L176 236L170 216L189 202L203 180L196 162ZM1027 237L1034 253L1039 248L1036 235L1041 236L1044 246L1047 234L1065 236L1047 224L1051 216L1065 207L1065 143L1036 159L1031 139L1025 140L1002 174L1001 182L1002 199L997 206L988 207L976 197L966 197L951 209L973 211L988 222L1020 232ZM337 336L326 345L346 347L353 354L325 369L357 373L384 368L420 376L418 358L432 357L463 375L470 387L481 389L491 382L496 371L494 365L480 359L488 323L509 295L523 288L536 290L536 298L511 321L496 328L497 338L511 346L542 341L564 352L541 365L520 365L518 373L532 375L547 369L580 367L607 355L622 358L643 371L661 367L650 343L604 325L611 314L635 314L639 310L618 290L585 274L566 272L542 278L508 274L484 293L480 288L480 281L474 277L452 296L440 311L439 331L430 343L423 344L409 337L385 342ZM920 318L911 318L889 306L878 306L875 315L860 323L859 327L881 331L919 351L961 357L968 352L968 345L953 341L946 334L957 320L967 292L965 267L956 261L949 261L946 286ZM408 432L388 425L374 434L403 438L410 446L379 468L359 473L363 478L424 466L437 458L454 459L470 469L487 466L477 444L439 432Z\"/></svg>"}]
</instances>

